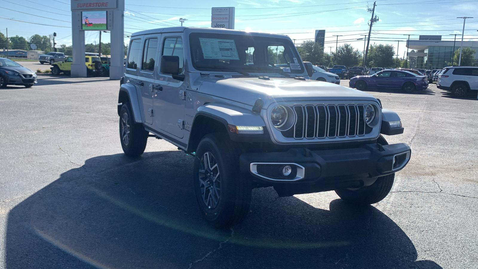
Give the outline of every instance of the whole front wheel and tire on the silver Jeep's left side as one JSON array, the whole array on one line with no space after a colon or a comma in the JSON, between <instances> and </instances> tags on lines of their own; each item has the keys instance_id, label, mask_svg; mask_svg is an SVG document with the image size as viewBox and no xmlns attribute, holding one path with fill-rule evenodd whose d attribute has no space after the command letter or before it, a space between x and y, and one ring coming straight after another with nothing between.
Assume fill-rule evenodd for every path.
<instances>
[{"instance_id":1,"label":"whole front wheel and tire on the silver Jeep's left side","mask_svg":"<svg viewBox=\"0 0 478 269\"><path fill-rule=\"evenodd\" d=\"M227 134L207 134L196 150L193 183L204 219L213 227L239 224L247 215L252 193L239 173L239 146Z\"/></svg>"}]
</instances>

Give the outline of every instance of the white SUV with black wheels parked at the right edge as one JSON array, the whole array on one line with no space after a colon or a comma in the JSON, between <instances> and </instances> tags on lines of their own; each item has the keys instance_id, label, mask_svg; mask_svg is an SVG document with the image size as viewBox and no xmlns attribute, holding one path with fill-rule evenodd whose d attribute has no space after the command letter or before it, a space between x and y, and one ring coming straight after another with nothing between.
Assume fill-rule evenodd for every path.
<instances>
[{"instance_id":1,"label":"white SUV with black wheels parked at the right edge","mask_svg":"<svg viewBox=\"0 0 478 269\"><path fill-rule=\"evenodd\" d=\"M478 67L445 67L438 75L436 88L464 97L469 90L478 90Z\"/></svg>"}]
</instances>

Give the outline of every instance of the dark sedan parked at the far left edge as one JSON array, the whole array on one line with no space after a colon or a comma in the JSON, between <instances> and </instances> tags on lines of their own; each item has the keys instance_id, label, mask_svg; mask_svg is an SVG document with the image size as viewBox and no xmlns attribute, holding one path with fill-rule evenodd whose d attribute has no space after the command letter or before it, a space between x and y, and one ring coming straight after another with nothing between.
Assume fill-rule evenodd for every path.
<instances>
[{"instance_id":1,"label":"dark sedan parked at the far left edge","mask_svg":"<svg viewBox=\"0 0 478 269\"><path fill-rule=\"evenodd\" d=\"M36 73L20 64L0 57L0 88L7 85L22 85L27 88L36 83Z\"/></svg>"}]
</instances>

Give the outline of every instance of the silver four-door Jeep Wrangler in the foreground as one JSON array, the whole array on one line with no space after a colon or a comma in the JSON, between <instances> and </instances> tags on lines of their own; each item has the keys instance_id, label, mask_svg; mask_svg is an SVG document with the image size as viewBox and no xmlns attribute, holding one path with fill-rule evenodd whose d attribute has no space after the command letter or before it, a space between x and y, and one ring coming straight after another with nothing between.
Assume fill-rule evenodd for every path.
<instances>
[{"instance_id":1,"label":"silver four-door Jeep Wrangler in the foreground","mask_svg":"<svg viewBox=\"0 0 478 269\"><path fill-rule=\"evenodd\" d=\"M365 92L309 80L312 72L285 35L132 34L118 99L123 151L139 156L155 136L195 156L197 202L215 227L246 216L252 188L381 201L410 160L409 146L380 135L402 134L400 117Z\"/></svg>"}]
</instances>

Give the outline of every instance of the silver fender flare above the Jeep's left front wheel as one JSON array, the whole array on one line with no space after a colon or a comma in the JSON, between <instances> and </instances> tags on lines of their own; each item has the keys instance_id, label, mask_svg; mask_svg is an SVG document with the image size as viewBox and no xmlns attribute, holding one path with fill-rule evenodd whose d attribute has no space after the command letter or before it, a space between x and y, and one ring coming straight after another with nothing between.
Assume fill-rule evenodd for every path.
<instances>
[{"instance_id":1,"label":"silver fender flare above the Jeep's left front wheel","mask_svg":"<svg viewBox=\"0 0 478 269\"><path fill-rule=\"evenodd\" d=\"M209 103L197 109L196 115L208 114L222 119L227 124L236 126L263 126L265 123L261 116L242 108L225 104Z\"/></svg>"}]
</instances>

